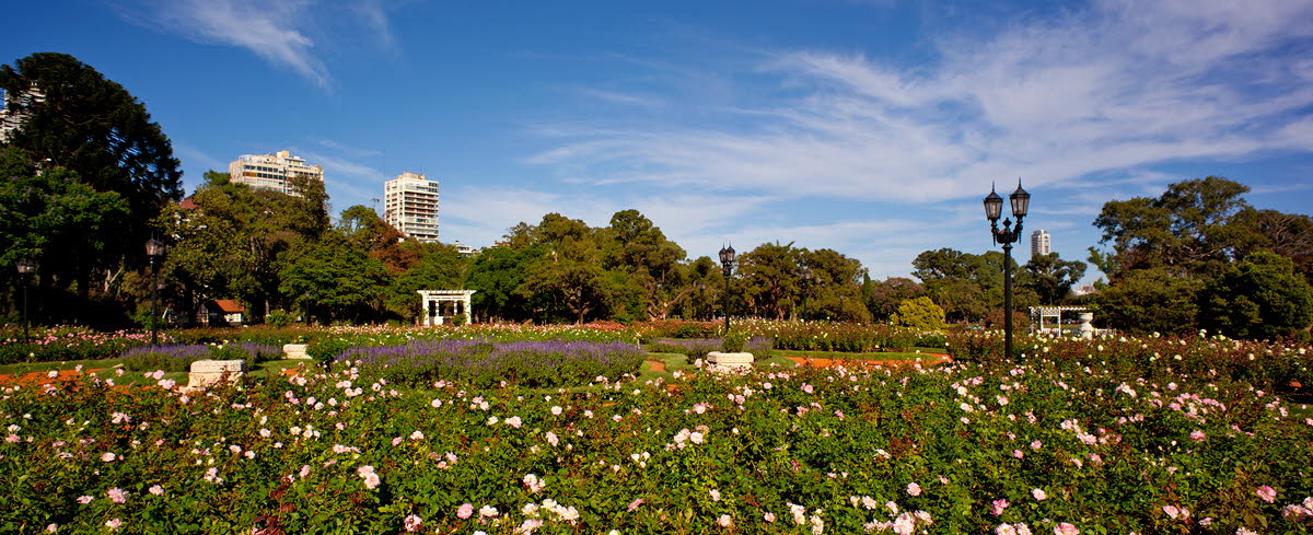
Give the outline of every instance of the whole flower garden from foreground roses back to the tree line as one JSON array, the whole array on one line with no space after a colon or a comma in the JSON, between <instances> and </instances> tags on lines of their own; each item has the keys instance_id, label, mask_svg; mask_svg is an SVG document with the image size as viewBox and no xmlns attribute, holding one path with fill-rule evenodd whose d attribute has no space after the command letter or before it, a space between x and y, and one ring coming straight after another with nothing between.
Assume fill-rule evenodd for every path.
<instances>
[{"instance_id":1,"label":"whole flower garden from foreground roses back to the tree line","mask_svg":"<svg viewBox=\"0 0 1313 535\"><path fill-rule=\"evenodd\" d=\"M43 332L30 355L54 362L9 366L42 380L0 397L0 525L1313 531L1306 346L1020 337L1003 359L994 332L743 330L756 363L729 372L701 366L717 327L684 321L201 330L161 346ZM223 334L239 340L207 340ZM318 361L261 350L289 341ZM884 349L952 362L863 361ZM815 351L853 359L807 366ZM251 362L240 380L186 388L188 362L234 355Z\"/></svg>"}]
</instances>

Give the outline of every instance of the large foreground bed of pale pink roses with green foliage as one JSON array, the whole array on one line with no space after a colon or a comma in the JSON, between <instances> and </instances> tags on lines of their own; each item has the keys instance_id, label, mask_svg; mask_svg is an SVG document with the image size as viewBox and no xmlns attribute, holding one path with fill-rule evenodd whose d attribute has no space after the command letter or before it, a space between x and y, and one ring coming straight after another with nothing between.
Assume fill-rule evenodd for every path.
<instances>
[{"instance_id":1,"label":"large foreground bed of pale pink roses with green foliage","mask_svg":"<svg viewBox=\"0 0 1313 535\"><path fill-rule=\"evenodd\" d=\"M553 393L402 392L368 366L192 393L11 388L0 502L24 506L0 526L1310 532L1306 406L1217 370L1129 378L1094 357Z\"/></svg>"}]
</instances>

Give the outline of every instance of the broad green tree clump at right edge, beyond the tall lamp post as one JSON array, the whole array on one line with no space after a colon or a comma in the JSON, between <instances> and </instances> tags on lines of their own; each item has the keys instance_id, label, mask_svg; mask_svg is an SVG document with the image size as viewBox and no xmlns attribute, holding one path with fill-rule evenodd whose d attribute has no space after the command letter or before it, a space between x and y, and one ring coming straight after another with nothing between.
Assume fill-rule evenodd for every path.
<instances>
[{"instance_id":1,"label":"broad green tree clump at right edge, beyond the tall lamp post","mask_svg":"<svg viewBox=\"0 0 1313 535\"><path fill-rule=\"evenodd\" d=\"M1092 296L1107 327L1272 338L1308 332L1313 220L1255 210L1249 188L1220 177L1112 201L1094 224L1111 250L1090 249L1108 275Z\"/></svg>"}]
</instances>

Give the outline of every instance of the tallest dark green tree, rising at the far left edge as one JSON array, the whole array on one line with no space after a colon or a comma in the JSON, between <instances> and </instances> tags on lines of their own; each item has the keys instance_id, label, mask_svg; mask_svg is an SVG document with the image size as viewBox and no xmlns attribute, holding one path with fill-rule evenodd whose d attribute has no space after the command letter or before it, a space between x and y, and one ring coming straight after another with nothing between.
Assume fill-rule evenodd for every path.
<instances>
[{"instance_id":1,"label":"tallest dark green tree, rising at the far left edge","mask_svg":"<svg viewBox=\"0 0 1313 535\"><path fill-rule=\"evenodd\" d=\"M66 54L39 52L0 66L0 89L7 111L18 118L4 140L5 157L26 161L21 174L11 176L39 177L45 185L38 190L54 195L46 198L54 202L49 206L81 220L80 239L60 241L59 250L26 253L50 261L42 262L42 285L75 291L83 307L93 292L97 299L129 292L122 274L146 264L148 222L181 197L168 138L122 85ZM83 193L67 197L70 191ZM20 247L38 245L28 240Z\"/></svg>"}]
</instances>

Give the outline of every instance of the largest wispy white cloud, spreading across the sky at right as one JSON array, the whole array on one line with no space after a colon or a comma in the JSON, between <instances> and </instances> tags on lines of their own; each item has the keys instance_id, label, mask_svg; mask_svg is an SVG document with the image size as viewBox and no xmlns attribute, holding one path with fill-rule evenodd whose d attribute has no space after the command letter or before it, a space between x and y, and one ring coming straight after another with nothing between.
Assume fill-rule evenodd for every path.
<instances>
[{"instance_id":1,"label":"largest wispy white cloud, spreading across the sky at right","mask_svg":"<svg viewBox=\"0 0 1313 535\"><path fill-rule=\"evenodd\" d=\"M1313 67L1289 47L1310 35L1308 3L1108 0L944 37L928 67L785 51L755 66L785 98L687 102L723 119L714 127L563 125L532 161L595 184L935 202L1016 176L1044 188L1308 151Z\"/></svg>"}]
</instances>

